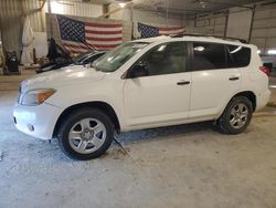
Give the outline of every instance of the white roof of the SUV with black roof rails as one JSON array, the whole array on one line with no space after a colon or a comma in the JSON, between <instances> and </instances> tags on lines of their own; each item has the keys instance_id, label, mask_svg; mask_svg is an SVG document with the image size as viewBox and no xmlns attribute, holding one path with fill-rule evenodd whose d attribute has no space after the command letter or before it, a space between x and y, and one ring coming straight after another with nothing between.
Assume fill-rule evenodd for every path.
<instances>
[{"instance_id":1,"label":"white roof of the SUV with black roof rails","mask_svg":"<svg viewBox=\"0 0 276 208\"><path fill-rule=\"evenodd\" d=\"M198 42L212 42L212 43L222 43L222 44L234 44L234 45L242 45L242 46L251 46L251 44L242 43L240 40L223 40L222 38L215 37L193 37L193 35L183 35L180 38L173 37L166 37L160 35L156 38L148 38L148 39L139 39L132 42L147 42L147 43L155 43L155 42L170 42L170 41L198 41Z\"/></svg>"}]
</instances>

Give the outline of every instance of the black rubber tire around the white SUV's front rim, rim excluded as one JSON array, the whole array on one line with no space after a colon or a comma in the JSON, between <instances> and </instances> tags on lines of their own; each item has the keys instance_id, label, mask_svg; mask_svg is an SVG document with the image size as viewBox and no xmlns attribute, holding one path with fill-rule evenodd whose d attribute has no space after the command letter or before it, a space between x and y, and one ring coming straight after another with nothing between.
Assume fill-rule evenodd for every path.
<instances>
[{"instance_id":1,"label":"black rubber tire around the white SUV's front rim, rim excluded","mask_svg":"<svg viewBox=\"0 0 276 208\"><path fill-rule=\"evenodd\" d=\"M70 131L72 127L79 121L85 118L95 118L104 124L106 129L106 137L102 146L93 153L82 154L77 153L74 148L72 148L70 144ZM110 118L97 108L82 108L78 111L72 112L68 116L66 116L61 125L57 134L59 144L61 149L72 159L77 160L87 160L97 158L100 155L105 154L105 152L109 148L110 144L114 139L114 125Z\"/></svg>"}]
</instances>

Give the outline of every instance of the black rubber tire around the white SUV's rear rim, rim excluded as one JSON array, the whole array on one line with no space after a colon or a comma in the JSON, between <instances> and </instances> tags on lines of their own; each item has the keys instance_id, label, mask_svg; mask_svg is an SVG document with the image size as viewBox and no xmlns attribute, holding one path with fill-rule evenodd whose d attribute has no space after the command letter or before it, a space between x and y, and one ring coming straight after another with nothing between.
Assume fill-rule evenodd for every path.
<instances>
[{"instance_id":1,"label":"black rubber tire around the white SUV's rear rim, rim excluded","mask_svg":"<svg viewBox=\"0 0 276 208\"><path fill-rule=\"evenodd\" d=\"M231 111L237 106L238 104L243 104L244 106L247 107L247 119L246 122L244 122L243 126L241 127L233 127L231 125ZM253 106L252 106L252 102L245 97L245 96L235 96L233 97L230 103L227 104L227 106L225 107L223 114L221 115L221 117L216 121L216 126L219 127L219 131L221 133L224 134L240 134L243 131L246 129L246 127L248 126L248 124L251 123L251 118L252 118L252 114L253 114Z\"/></svg>"}]
</instances>

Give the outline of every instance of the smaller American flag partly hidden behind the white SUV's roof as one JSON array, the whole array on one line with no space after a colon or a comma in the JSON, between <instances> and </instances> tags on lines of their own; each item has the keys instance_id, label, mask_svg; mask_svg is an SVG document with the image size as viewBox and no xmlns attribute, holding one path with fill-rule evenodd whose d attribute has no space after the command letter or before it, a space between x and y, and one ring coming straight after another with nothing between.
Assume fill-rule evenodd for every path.
<instances>
[{"instance_id":1,"label":"smaller American flag partly hidden behind the white SUV's roof","mask_svg":"<svg viewBox=\"0 0 276 208\"><path fill-rule=\"evenodd\" d=\"M138 22L138 31L140 33L140 38L151 38L159 35L174 35L174 34L183 34L184 27L153 27Z\"/></svg>"}]
</instances>

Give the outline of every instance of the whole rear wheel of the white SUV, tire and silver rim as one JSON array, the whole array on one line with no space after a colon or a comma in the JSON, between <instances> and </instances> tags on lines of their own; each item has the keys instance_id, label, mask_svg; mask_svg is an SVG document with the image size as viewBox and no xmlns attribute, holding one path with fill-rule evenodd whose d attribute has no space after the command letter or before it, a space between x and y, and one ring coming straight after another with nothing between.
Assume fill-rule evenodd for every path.
<instances>
[{"instance_id":1,"label":"whole rear wheel of the white SUV, tire and silver rim","mask_svg":"<svg viewBox=\"0 0 276 208\"><path fill-rule=\"evenodd\" d=\"M253 114L252 102L245 96L233 97L216 122L225 134L240 134L248 126Z\"/></svg>"}]
</instances>

